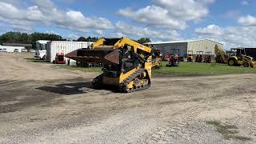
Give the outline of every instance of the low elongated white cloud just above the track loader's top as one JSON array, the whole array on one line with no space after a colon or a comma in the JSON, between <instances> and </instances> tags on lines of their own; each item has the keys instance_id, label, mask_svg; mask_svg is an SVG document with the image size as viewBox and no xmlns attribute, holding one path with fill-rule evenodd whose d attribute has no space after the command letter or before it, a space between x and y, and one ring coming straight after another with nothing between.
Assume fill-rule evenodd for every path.
<instances>
[{"instance_id":1,"label":"low elongated white cloud just above the track loader's top","mask_svg":"<svg viewBox=\"0 0 256 144\"><path fill-rule=\"evenodd\" d=\"M151 38L154 40L177 40L180 39L180 35L176 30L170 31L157 31L157 30L150 30L147 27L139 27L139 26L130 26L125 22L117 22L116 29L118 30L119 34L128 35L135 38Z\"/></svg>"}]
</instances>

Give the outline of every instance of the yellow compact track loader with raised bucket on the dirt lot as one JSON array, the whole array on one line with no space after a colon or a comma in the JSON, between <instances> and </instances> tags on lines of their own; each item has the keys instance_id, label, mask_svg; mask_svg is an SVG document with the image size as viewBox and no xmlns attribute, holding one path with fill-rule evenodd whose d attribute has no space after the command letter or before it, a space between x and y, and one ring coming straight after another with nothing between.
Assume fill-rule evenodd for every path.
<instances>
[{"instance_id":1,"label":"yellow compact track loader with raised bucket on the dirt lot","mask_svg":"<svg viewBox=\"0 0 256 144\"><path fill-rule=\"evenodd\" d=\"M150 87L151 48L128 38L101 38L92 50L75 50L66 58L104 65L103 73L92 82L96 89L116 86L120 92L128 93Z\"/></svg>"}]
</instances>

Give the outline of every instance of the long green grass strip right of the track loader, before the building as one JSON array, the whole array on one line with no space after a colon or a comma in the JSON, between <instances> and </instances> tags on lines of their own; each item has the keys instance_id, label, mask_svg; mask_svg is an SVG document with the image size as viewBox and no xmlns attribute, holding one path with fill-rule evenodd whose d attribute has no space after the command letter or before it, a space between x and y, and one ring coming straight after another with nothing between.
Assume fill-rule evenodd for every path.
<instances>
[{"instance_id":1,"label":"long green grass strip right of the track loader, before the building","mask_svg":"<svg viewBox=\"0 0 256 144\"><path fill-rule=\"evenodd\" d=\"M243 66L228 66L219 63L181 62L178 67L166 67L162 62L162 69L153 70L156 76L207 76L222 74L256 74L256 69Z\"/></svg>"}]
</instances>

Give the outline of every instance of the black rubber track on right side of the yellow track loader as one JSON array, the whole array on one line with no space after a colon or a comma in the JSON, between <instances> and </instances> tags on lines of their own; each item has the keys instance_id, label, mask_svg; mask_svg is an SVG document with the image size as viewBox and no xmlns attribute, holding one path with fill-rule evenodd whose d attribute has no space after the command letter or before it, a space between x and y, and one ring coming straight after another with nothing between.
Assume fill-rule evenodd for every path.
<instances>
[{"instance_id":1,"label":"black rubber track on right side of the yellow track loader","mask_svg":"<svg viewBox=\"0 0 256 144\"><path fill-rule=\"evenodd\" d=\"M122 92L122 93L130 93L130 92L133 92L133 91L137 91L137 90L144 90L144 89L147 89L150 87L150 84L147 85L147 86L143 86L143 87L140 87L138 89L133 89L133 90L126 90L126 86L132 81L134 80L134 78L137 78L139 74L142 74L142 72L144 71L145 69L139 69L137 70L134 74L131 74L128 78L126 78L126 80L124 80L122 83L119 84L119 92Z\"/></svg>"}]
</instances>

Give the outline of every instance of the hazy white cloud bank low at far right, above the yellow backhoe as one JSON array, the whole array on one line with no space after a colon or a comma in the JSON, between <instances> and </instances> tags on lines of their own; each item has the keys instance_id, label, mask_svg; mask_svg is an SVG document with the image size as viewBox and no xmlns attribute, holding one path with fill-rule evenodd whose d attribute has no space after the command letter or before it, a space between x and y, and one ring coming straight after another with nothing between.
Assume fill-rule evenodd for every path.
<instances>
[{"instance_id":1,"label":"hazy white cloud bank low at far right, above the yellow backhoe","mask_svg":"<svg viewBox=\"0 0 256 144\"><path fill-rule=\"evenodd\" d=\"M215 27L222 31L222 33L213 33L213 29L209 27ZM199 30L199 31L198 31ZM200 31L202 30L202 31ZM255 47L256 46L256 27L246 26L227 26L219 27L215 25L198 28L195 30L200 38L211 38L218 42L222 42L225 45L225 49L228 50L231 47Z\"/></svg>"}]
</instances>

